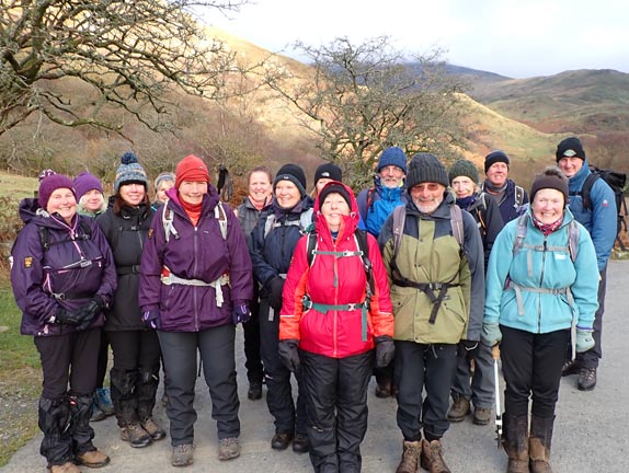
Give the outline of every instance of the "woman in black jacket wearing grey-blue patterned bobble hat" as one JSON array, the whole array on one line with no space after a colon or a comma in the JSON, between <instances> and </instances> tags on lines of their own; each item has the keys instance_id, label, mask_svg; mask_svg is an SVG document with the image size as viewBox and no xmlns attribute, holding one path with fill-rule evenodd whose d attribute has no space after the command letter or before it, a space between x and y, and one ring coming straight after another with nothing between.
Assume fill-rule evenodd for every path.
<instances>
[{"instance_id":1,"label":"woman in black jacket wearing grey-blue patterned bobble hat","mask_svg":"<svg viewBox=\"0 0 629 473\"><path fill-rule=\"evenodd\" d=\"M135 448L165 437L152 419L160 345L156 331L142 323L138 304L142 247L155 215L147 188L147 174L137 157L133 152L123 154L110 208L96 217L112 247L118 276L118 288L105 323L114 354L110 372L112 401L121 438Z\"/></svg>"}]
</instances>

